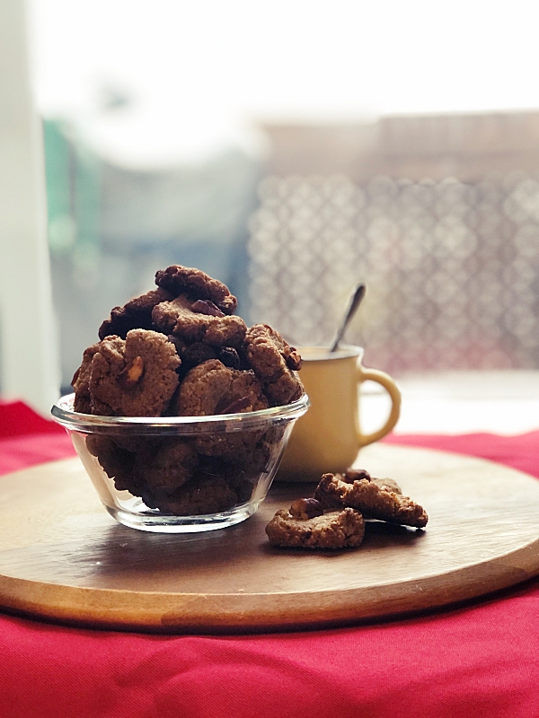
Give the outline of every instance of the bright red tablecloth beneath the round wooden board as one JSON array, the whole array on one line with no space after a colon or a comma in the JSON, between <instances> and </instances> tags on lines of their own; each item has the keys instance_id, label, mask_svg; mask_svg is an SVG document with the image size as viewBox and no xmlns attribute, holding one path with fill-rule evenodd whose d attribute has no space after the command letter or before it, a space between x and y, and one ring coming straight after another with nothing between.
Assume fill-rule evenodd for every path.
<instances>
[{"instance_id":1,"label":"bright red tablecloth beneath the round wooden board","mask_svg":"<svg viewBox=\"0 0 539 718\"><path fill-rule=\"evenodd\" d=\"M388 441L539 477L539 432ZM0 406L0 473L71 455L63 430ZM539 716L538 580L426 617L296 634L137 635L0 615L2 718L418 715Z\"/></svg>"}]
</instances>

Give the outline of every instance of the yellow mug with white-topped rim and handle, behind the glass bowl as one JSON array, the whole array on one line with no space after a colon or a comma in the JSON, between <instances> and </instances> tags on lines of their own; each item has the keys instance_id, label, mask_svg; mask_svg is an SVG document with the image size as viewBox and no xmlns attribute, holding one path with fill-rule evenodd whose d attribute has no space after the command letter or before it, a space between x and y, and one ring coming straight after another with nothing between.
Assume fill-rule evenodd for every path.
<instances>
[{"instance_id":1,"label":"yellow mug with white-topped rim and handle, behind the glass bowl","mask_svg":"<svg viewBox=\"0 0 539 718\"><path fill-rule=\"evenodd\" d=\"M360 447L393 429L401 410L401 392L388 374L361 365L359 346L341 346L333 353L320 346L304 346L298 352L303 359L299 375L311 406L296 421L277 480L320 481L328 471L349 468ZM367 380L387 390L392 407L381 429L364 434L359 423L359 385Z\"/></svg>"}]
</instances>

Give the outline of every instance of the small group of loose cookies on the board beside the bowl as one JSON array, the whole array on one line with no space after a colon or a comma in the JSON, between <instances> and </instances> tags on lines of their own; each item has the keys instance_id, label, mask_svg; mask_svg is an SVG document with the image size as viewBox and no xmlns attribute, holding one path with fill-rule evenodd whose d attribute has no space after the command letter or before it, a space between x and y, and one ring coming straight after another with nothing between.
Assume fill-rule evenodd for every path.
<instances>
[{"instance_id":1,"label":"small group of loose cookies on the board beside the bowl","mask_svg":"<svg viewBox=\"0 0 539 718\"><path fill-rule=\"evenodd\" d=\"M364 469L324 474L314 498L278 511L266 527L273 546L353 548L365 535L365 519L422 529L429 516L419 503L402 495L391 478L372 478Z\"/></svg>"}]
</instances>

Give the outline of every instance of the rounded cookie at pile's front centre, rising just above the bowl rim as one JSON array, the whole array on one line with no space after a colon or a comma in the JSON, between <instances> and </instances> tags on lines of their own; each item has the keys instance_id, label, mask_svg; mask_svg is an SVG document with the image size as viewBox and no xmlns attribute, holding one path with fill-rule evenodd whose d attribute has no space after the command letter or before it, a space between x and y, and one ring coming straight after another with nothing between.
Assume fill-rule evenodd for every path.
<instances>
[{"instance_id":1,"label":"rounded cookie at pile's front centre, rising just above the bowl rim","mask_svg":"<svg viewBox=\"0 0 539 718\"><path fill-rule=\"evenodd\" d=\"M178 416L212 416L268 407L253 372L230 369L218 359L195 366L181 382Z\"/></svg>"}]
</instances>

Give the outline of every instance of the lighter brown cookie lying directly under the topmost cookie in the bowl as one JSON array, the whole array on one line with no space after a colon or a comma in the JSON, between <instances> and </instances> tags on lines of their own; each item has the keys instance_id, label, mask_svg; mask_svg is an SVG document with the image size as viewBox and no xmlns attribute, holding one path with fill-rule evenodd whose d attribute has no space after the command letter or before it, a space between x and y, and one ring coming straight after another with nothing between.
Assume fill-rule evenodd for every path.
<instances>
[{"instance_id":1,"label":"lighter brown cookie lying directly under the topmost cookie in the bowl","mask_svg":"<svg viewBox=\"0 0 539 718\"><path fill-rule=\"evenodd\" d=\"M240 347L247 331L240 317L229 317L217 309L209 311L212 302L193 302L187 294L180 294L170 302L157 304L152 312L155 327L164 334L172 334L181 341L209 346Z\"/></svg>"}]
</instances>

